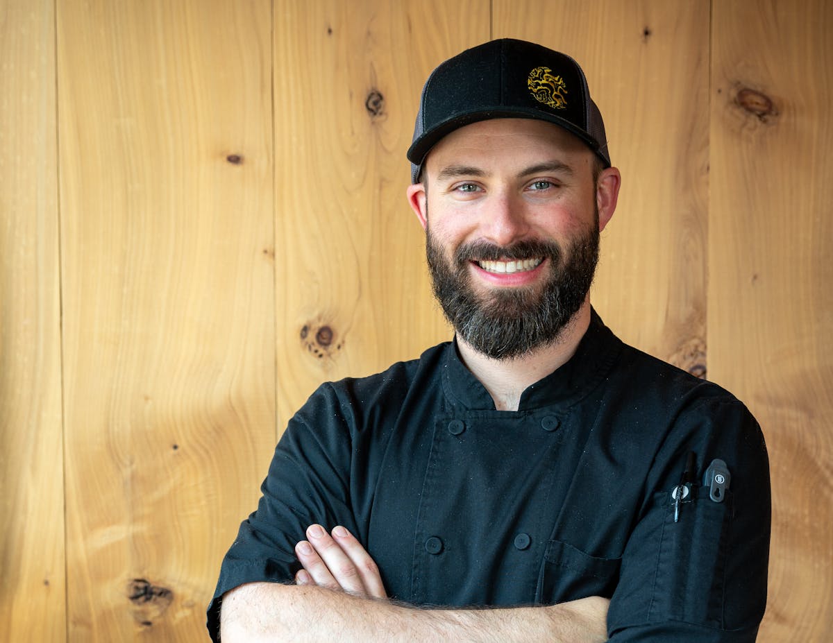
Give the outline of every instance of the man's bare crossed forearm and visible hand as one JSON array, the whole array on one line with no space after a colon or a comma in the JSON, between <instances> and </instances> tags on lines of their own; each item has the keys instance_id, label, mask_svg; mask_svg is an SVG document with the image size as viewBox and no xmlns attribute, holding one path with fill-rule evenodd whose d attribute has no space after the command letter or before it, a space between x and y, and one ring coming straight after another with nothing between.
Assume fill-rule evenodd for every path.
<instances>
[{"instance_id":1,"label":"man's bare crossed forearm and visible hand","mask_svg":"<svg viewBox=\"0 0 833 643\"><path fill-rule=\"evenodd\" d=\"M342 526L307 529L296 585L248 583L223 596L222 643L263 641L606 641L609 601L420 610L387 600L375 561Z\"/></svg>"}]
</instances>

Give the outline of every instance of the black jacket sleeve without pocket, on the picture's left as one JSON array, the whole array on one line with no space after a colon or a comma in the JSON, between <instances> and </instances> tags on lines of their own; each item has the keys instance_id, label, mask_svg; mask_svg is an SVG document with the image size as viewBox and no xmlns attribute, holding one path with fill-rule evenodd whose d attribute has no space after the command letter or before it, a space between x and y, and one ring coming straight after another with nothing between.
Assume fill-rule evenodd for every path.
<instances>
[{"instance_id":1,"label":"black jacket sleeve without pocket, on the picture's left","mask_svg":"<svg viewBox=\"0 0 833 643\"><path fill-rule=\"evenodd\" d=\"M350 506L351 421L332 385L322 385L289 421L275 449L257 511L243 521L220 568L207 610L219 636L222 595L245 583L292 582L301 568L297 541L307 526L343 525L356 533Z\"/></svg>"}]
</instances>

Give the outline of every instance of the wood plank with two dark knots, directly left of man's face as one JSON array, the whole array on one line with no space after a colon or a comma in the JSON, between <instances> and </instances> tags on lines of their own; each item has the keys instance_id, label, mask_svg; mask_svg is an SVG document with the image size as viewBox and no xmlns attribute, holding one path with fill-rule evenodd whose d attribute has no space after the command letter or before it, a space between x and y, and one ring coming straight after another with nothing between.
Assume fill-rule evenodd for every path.
<instances>
[{"instance_id":1,"label":"wood plank with two dark knots, directly left of man's face","mask_svg":"<svg viewBox=\"0 0 833 643\"><path fill-rule=\"evenodd\" d=\"M405 198L422 83L489 3L275 3L278 426L325 380L451 337Z\"/></svg>"}]
</instances>

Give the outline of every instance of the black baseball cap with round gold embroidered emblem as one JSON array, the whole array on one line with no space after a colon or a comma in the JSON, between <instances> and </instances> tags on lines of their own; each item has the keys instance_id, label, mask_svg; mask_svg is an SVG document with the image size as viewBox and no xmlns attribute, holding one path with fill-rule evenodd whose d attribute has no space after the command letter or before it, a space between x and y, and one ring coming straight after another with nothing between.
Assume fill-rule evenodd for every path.
<instances>
[{"instance_id":1,"label":"black baseball cap with round gold embroidered emblem","mask_svg":"<svg viewBox=\"0 0 833 643\"><path fill-rule=\"evenodd\" d=\"M436 142L458 127L490 118L535 118L581 138L611 167L605 124L578 63L534 42L502 38L442 62L422 87L407 157L417 182Z\"/></svg>"}]
</instances>

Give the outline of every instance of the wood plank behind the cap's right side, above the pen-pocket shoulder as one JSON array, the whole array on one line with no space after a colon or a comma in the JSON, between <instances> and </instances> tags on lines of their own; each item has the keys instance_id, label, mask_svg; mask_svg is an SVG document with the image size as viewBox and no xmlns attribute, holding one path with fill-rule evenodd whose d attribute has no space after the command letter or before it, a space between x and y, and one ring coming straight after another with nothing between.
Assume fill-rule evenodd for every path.
<instances>
[{"instance_id":1,"label":"wood plank behind the cap's right side, above the pen-pocket shoulder","mask_svg":"<svg viewBox=\"0 0 833 643\"><path fill-rule=\"evenodd\" d=\"M709 5L495 0L494 37L565 52L584 68L619 207L602 234L592 300L625 341L706 371Z\"/></svg>"}]
</instances>

